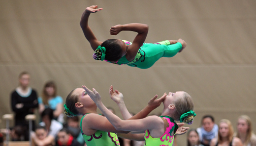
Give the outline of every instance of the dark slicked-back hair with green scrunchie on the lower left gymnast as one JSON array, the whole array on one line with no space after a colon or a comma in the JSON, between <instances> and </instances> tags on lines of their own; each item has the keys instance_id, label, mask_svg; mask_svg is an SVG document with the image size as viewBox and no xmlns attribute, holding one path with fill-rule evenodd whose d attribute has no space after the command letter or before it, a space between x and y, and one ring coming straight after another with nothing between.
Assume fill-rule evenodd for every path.
<instances>
[{"instance_id":1,"label":"dark slicked-back hair with green scrunchie on the lower left gymnast","mask_svg":"<svg viewBox=\"0 0 256 146\"><path fill-rule=\"evenodd\" d=\"M66 103L64 104L64 113L67 117L77 116L79 113L75 108L75 103L78 102L78 96L73 94L72 90L66 97Z\"/></svg>"}]
</instances>

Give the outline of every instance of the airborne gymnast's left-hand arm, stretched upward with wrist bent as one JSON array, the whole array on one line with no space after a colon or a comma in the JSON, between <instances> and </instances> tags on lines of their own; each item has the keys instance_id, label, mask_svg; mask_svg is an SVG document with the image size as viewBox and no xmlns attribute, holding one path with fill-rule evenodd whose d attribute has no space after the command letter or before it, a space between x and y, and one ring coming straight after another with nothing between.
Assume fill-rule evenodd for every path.
<instances>
[{"instance_id":1,"label":"airborne gymnast's left-hand arm, stretched upward with wrist bent","mask_svg":"<svg viewBox=\"0 0 256 146\"><path fill-rule=\"evenodd\" d=\"M93 50L96 50L99 45L102 44L102 42L98 41L96 39L96 36L94 35L93 31L91 30L90 26L88 25L88 19L91 13L96 13L97 11L102 10L102 8L97 8L97 5L92 5L90 7L87 7L81 17L80 26L84 32L84 35L86 39L91 44L91 47Z\"/></svg>"}]
</instances>

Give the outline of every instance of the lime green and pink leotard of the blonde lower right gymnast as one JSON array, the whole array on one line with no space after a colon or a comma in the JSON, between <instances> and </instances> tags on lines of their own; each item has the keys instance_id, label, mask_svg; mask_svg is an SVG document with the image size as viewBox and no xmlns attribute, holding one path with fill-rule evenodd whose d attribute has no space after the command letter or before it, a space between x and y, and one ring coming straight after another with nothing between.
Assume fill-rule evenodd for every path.
<instances>
[{"instance_id":1,"label":"lime green and pink leotard of the blonde lower right gymnast","mask_svg":"<svg viewBox=\"0 0 256 146\"><path fill-rule=\"evenodd\" d=\"M174 135L179 126L177 123L169 116L160 116L164 118L169 123L169 127L166 127L166 131L159 138L153 138L149 130L145 131L145 146L172 146L174 141Z\"/></svg>"}]
</instances>

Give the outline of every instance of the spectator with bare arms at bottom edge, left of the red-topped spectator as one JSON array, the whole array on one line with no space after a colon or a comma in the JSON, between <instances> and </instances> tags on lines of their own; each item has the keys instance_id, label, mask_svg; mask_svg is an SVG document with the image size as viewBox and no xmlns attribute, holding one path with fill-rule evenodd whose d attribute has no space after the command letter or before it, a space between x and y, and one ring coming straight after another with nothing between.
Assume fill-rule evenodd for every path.
<instances>
[{"instance_id":1,"label":"spectator with bare arms at bottom edge, left of the red-topped spectator","mask_svg":"<svg viewBox=\"0 0 256 146\"><path fill-rule=\"evenodd\" d=\"M38 126L35 129L35 134L32 134L32 146L55 146L54 137L47 136L46 128Z\"/></svg>"}]
</instances>

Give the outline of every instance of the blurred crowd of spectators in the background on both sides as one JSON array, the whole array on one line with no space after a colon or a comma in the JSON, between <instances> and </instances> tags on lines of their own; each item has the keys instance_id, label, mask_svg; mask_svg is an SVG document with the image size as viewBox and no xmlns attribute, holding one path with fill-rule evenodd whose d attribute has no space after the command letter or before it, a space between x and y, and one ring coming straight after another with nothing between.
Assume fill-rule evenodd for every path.
<instances>
[{"instance_id":1,"label":"blurred crowd of spectators in the background on both sides","mask_svg":"<svg viewBox=\"0 0 256 146\"><path fill-rule=\"evenodd\" d=\"M19 86L10 97L11 109L15 114L15 124L9 130L10 141L29 141L31 136L32 146L86 146L79 118L64 116L64 101L58 96L54 81L46 82L38 97L36 90L30 87L30 74L22 72ZM35 114L35 109L38 109L40 118L39 123L32 122L33 132L30 134L25 116ZM109 110L115 114L113 108ZM0 146L3 145L4 134L0 133ZM177 146L175 139L174 146ZM144 146L144 142L121 138L119 141L121 146ZM236 133L229 120L215 123L213 116L205 115L201 127L187 132L187 146L256 146L256 135L252 121L246 115L237 118Z\"/></svg>"}]
</instances>

